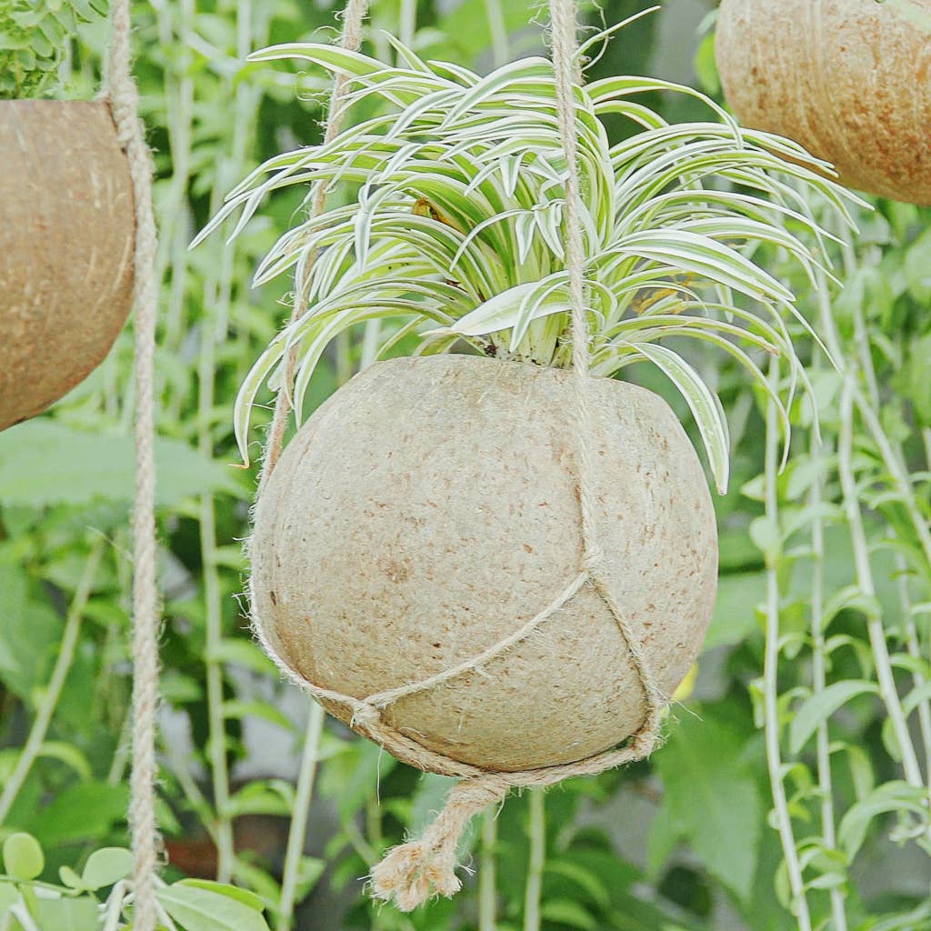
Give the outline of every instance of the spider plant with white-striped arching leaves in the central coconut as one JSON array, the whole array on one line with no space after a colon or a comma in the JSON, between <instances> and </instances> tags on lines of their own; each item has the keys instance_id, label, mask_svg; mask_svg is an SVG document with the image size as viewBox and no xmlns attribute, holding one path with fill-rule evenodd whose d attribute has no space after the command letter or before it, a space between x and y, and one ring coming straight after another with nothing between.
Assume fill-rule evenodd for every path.
<instances>
[{"instance_id":1,"label":"spider plant with white-striped arching leaves in the central coconut","mask_svg":"<svg viewBox=\"0 0 931 931\"><path fill-rule=\"evenodd\" d=\"M416 354L470 346L496 358L571 364L566 159L552 64L525 58L482 77L422 61L391 41L397 66L317 44L250 57L310 62L350 82L347 106L370 101L371 112L372 99L379 106L331 142L253 171L198 237L238 210L236 236L263 198L286 186L304 185L308 196L318 184L350 194L344 206L297 223L258 269L256 285L293 274L306 310L277 334L239 392L244 458L256 395L266 381L276 384L292 350L300 412L327 345L367 321L381 321L369 326L379 328L383 355L414 337ZM648 91L697 97L708 121L671 125L637 101ZM614 145L601 121L609 114L626 117L634 130ZM829 165L794 142L738 127L692 88L643 77L594 81L576 89L575 125L591 371L610 377L649 362L665 372L695 416L723 491L729 439L722 404L674 338L711 344L746 367L775 401L788 439L790 398L796 385L807 385L792 331L801 324L815 334L791 291L754 255L761 247L783 250L814 281L827 272L825 240L834 237L809 205L826 202L853 226L845 201L854 198L825 177ZM781 392L762 375L766 354L784 366Z\"/></svg>"}]
</instances>

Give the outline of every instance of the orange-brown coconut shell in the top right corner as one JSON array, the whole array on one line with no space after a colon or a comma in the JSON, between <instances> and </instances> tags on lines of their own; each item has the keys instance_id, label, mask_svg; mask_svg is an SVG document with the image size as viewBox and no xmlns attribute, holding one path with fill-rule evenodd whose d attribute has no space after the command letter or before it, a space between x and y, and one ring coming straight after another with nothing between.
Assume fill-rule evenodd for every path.
<instances>
[{"instance_id":1,"label":"orange-brown coconut shell in the top right corner","mask_svg":"<svg viewBox=\"0 0 931 931\"><path fill-rule=\"evenodd\" d=\"M911 0L931 16L931 0ZM849 187L931 204L931 33L876 0L722 0L724 94Z\"/></svg>"}]
</instances>

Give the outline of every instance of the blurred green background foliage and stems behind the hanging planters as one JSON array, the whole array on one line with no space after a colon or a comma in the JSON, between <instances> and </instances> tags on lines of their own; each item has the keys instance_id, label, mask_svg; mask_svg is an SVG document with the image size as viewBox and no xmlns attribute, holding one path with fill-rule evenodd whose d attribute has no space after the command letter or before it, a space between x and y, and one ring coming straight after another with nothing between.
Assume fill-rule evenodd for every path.
<instances>
[{"instance_id":1,"label":"blurred green background foliage and stems behind the hanging planters","mask_svg":"<svg viewBox=\"0 0 931 931\"><path fill-rule=\"evenodd\" d=\"M18 0L0 0L4 96L17 80L11 55L26 65L37 55L61 78L20 80L17 92L91 96L102 5L44 2L27 4L30 19ZM587 16L612 24L647 6L608 0ZM654 74L720 99L712 12L706 0L668 0L614 38L591 73ZM40 13L58 25L42 26ZM323 75L244 66L245 55L332 37L335 13L299 0L134 9L164 282L167 875L235 881L263 898L269 924L296 931L788 931L803 913L835 931L931 928L931 230L928 211L884 202L837 250L844 287L829 297L767 257L795 276L838 362L805 341L821 439L800 401L780 475L767 462L765 398L721 355L691 350L725 399L734 480L716 499L718 607L664 748L621 772L524 793L477 823L465 855L477 875L452 901L402 916L363 895L371 864L439 807L447 780L337 722L321 733L319 714L251 641L241 603L256 475L236 468L232 403L289 309L289 295L251 290L250 277L299 199L274 199L235 248L213 237L187 250L249 169L320 134ZM516 0L375 0L367 50L393 54L387 30L424 57L487 69L539 50L541 18ZM33 38L14 48L23 31ZM65 52L43 54L62 31L75 36ZM651 102L693 118L681 100L675 110L671 98ZM95 848L126 843L131 354L127 331L52 412L0 434L0 839L34 834L51 881ZM363 354L361 333L336 345L306 412ZM661 376L638 377L688 424Z\"/></svg>"}]
</instances>

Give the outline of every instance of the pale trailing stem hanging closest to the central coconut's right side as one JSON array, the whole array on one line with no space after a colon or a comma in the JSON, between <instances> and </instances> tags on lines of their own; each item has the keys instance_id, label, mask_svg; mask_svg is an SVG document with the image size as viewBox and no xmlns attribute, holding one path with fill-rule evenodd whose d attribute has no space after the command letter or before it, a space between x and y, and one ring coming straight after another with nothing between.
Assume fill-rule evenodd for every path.
<instances>
[{"instance_id":1,"label":"pale trailing stem hanging closest to the central coconut's right side","mask_svg":"<svg viewBox=\"0 0 931 931\"><path fill-rule=\"evenodd\" d=\"M770 377L776 388L779 371L776 361L770 363ZM779 425L776 405L770 400L766 405L766 454L765 454L765 488L766 519L773 527L779 526L779 503L776 490L778 474ZM763 731L766 744L766 763L769 769L769 781L773 789L773 806L776 811L776 825L782 842L783 856L786 858L786 870L789 873L794 913L799 922L799 931L812 931L811 913L805 897L802 865L799 862L792 819L789 815L789 803L786 799L786 787L782 781L782 758L779 749L779 706L778 706L778 668L779 668L779 578L777 557L774 554L766 558L766 646L763 662Z\"/></svg>"}]
</instances>

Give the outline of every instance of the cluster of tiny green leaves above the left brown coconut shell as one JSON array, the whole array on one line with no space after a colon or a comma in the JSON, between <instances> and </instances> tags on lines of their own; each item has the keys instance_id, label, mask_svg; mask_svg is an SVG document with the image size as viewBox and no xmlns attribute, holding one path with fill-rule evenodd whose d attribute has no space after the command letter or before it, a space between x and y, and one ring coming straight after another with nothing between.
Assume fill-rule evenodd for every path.
<instances>
[{"instance_id":1,"label":"cluster of tiny green leaves above the left brown coconut shell","mask_svg":"<svg viewBox=\"0 0 931 931\"><path fill-rule=\"evenodd\" d=\"M102 0L0 0L0 100L53 88L78 25L104 9Z\"/></svg>"}]
</instances>

